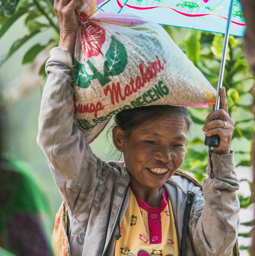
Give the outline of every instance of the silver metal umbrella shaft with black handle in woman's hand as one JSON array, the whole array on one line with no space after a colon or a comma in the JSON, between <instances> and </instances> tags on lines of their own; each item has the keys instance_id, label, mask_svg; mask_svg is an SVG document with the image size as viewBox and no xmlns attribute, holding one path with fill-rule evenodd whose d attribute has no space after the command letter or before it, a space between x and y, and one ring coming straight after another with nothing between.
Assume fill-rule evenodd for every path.
<instances>
[{"instance_id":1,"label":"silver metal umbrella shaft with black handle in woman's hand","mask_svg":"<svg viewBox=\"0 0 255 256\"><path fill-rule=\"evenodd\" d=\"M228 46L228 38L229 38L229 30L231 25L231 18L232 18L232 10L233 10L234 0L230 1L229 10L228 10L228 17L227 17L227 25L226 25L226 33L224 36L223 42L223 52L220 61L220 70L219 70L219 79L217 85L217 92L216 92L216 102L215 102L215 110L219 109L219 100L220 100L220 89L223 84L223 77L224 77L224 70L225 70L225 63L226 63L226 56L227 56L227 46ZM211 137L205 137L204 144L206 146L211 147L218 147L219 146L219 136L212 135Z\"/></svg>"}]
</instances>

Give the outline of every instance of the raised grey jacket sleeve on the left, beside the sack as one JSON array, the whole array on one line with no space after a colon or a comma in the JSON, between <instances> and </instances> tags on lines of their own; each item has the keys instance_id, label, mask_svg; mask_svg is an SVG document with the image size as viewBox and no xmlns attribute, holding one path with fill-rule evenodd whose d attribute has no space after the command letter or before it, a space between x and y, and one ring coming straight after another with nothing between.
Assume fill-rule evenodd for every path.
<instances>
[{"instance_id":1,"label":"raised grey jacket sleeve on the left, beside the sack","mask_svg":"<svg viewBox=\"0 0 255 256\"><path fill-rule=\"evenodd\" d=\"M73 122L72 71L70 52L53 48L46 62L48 78L40 106L37 143L48 159L68 211L73 214L79 202L93 196L98 159ZM86 198L80 198L85 195Z\"/></svg>"}]
</instances>

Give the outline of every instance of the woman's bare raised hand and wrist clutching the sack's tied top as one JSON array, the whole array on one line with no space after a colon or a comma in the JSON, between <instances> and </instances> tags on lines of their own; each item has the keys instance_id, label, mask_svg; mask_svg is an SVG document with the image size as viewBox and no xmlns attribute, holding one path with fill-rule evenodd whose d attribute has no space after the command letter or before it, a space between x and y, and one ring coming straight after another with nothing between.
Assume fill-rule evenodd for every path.
<instances>
[{"instance_id":1,"label":"woman's bare raised hand and wrist clutching the sack's tied top","mask_svg":"<svg viewBox=\"0 0 255 256\"><path fill-rule=\"evenodd\" d=\"M54 10L60 28L59 46L75 51L76 32L79 27L75 9L81 6L81 0L55 0Z\"/></svg>"}]
</instances>

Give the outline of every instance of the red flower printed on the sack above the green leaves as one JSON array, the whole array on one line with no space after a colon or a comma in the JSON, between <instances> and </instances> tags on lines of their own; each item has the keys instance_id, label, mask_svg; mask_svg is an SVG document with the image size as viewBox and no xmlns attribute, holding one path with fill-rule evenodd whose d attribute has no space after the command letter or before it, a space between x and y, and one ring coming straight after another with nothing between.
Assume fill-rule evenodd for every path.
<instances>
[{"instance_id":1,"label":"red flower printed on the sack above the green leaves","mask_svg":"<svg viewBox=\"0 0 255 256\"><path fill-rule=\"evenodd\" d=\"M84 60L97 56L105 41L105 30L95 22L89 22L80 31Z\"/></svg>"}]
</instances>

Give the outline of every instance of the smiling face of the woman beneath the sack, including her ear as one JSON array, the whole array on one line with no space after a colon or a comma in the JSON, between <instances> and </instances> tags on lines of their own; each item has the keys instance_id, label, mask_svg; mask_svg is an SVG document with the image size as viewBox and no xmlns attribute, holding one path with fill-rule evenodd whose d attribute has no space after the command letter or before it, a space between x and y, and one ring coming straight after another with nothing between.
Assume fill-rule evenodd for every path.
<instances>
[{"instance_id":1,"label":"smiling face of the woman beneath the sack, including her ear","mask_svg":"<svg viewBox=\"0 0 255 256\"><path fill-rule=\"evenodd\" d=\"M186 135L184 117L174 112L145 122L128 137L116 127L113 141L124 154L130 186L161 187L183 163Z\"/></svg>"}]
</instances>

